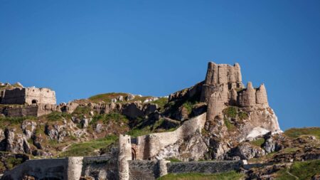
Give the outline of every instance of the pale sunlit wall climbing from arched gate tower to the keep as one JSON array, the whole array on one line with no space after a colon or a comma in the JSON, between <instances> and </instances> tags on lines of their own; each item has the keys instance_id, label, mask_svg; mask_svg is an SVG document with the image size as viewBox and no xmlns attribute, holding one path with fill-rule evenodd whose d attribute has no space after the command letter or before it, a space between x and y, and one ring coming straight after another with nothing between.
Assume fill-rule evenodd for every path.
<instances>
[{"instance_id":1,"label":"pale sunlit wall climbing from arched gate tower to the keep","mask_svg":"<svg viewBox=\"0 0 320 180\"><path fill-rule=\"evenodd\" d=\"M173 132L161 132L137 137L137 159L154 159L161 149L179 139L188 137L197 130L201 132L206 123L206 113L193 117ZM168 138L170 137L170 138Z\"/></svg>"}]
</instances>

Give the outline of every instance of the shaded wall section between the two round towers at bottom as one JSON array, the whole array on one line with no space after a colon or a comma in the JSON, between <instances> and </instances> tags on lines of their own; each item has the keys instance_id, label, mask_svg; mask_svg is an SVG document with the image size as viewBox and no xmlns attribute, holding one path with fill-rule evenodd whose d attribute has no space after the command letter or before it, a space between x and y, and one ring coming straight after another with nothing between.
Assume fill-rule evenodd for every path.
<instances>
[{"instance_id":1,"label":"shaded wall section between the two round towers at bottom","mask_svg":"<svg viewBox=\"0 0 320 180\"><path fill-rule=\"evenodd\" d=\"M83 157L81 176L95 179L118 179L117 159L110 156Z\"/></svg>"}]
</instances>

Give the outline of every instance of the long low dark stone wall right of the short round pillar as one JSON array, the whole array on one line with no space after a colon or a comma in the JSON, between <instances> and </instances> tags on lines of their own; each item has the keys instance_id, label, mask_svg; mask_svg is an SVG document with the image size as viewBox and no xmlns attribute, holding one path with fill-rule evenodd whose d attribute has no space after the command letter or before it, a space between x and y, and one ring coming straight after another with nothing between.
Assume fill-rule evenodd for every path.
<instances>
[{"instance_id":1,"label":"long low dark stone wall right of the short round pillar","mask_svg":"<svg viewBox=\"0 0 320 180\"><path fill-rule=\"evenodd\" d=\"M213 162L170 162L167 164L168 173L218 173L240 169L240 161Z\"/></svg>"}]
</instances>

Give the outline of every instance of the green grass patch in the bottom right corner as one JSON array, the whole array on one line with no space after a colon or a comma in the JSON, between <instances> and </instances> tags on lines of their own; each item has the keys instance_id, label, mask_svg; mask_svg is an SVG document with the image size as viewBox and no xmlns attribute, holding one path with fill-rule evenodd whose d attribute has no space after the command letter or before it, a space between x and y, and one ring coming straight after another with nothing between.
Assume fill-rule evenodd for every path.
<instances>
[{"instance_id":1,"label":"green grass patch in the bottom right corner","mask_svg":"<svg viewBox=\"0 0 320 180\"><path fill-rule=\"evenodd\" d=\"M277 180L296 179L296 177L298 179L311 179L316 174L320 174L320 160L294 162L290 168L277 172Z\"/></svg>"}]
</instances>

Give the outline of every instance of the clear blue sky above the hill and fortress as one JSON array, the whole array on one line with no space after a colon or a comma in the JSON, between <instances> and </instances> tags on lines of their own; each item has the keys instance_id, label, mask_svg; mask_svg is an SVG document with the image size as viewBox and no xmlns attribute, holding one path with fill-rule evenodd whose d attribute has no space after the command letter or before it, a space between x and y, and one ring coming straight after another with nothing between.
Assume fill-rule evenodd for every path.
<instances>
[{"instance_id":1,"label":"clear blue sky above the hill and fortress","mask_svg":"<svg viewBox=\"0 0 320 180\"><path fill-rule=\"evenodd\" d=\"M320 126L320 1L0 0L0 81L169 95L240 63L282 129Z\"/></svg>"}]
</instances>

